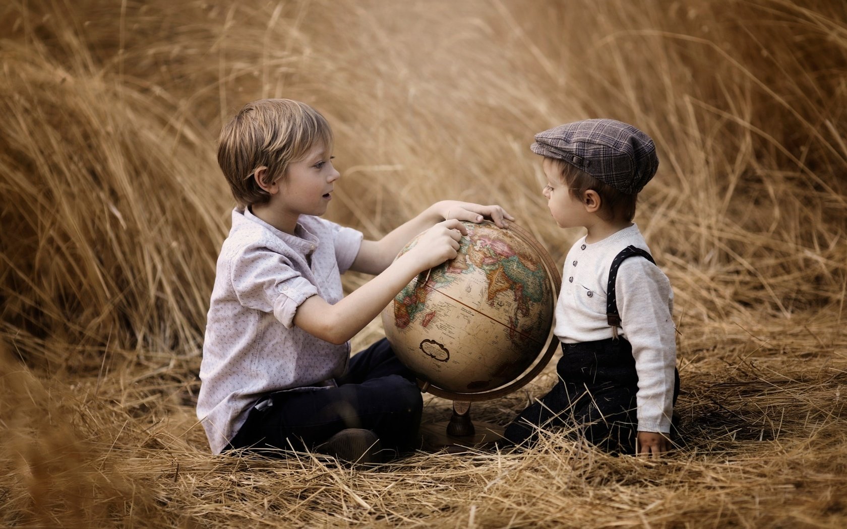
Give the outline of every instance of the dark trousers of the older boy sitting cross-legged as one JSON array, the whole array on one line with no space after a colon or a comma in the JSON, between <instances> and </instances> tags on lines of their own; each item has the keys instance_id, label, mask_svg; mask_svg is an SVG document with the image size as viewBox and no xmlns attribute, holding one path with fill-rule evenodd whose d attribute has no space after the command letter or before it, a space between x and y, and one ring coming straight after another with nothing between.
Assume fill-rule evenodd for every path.
<instances>
[{"instance_id":1,"label":"dark trousers of the older boy sitting cross-legged","mask_svg":"<svg viewBox=\"0 0 847 529\"><path fill-rule=\"evenodd\" d=\"M414 448L424 402L386 339L353 355L336 382L337 388L268 394L252 407L230 449L281 455L265 449L302 451L346 428L372 430L385 449Z\"/></svg>"}]
</instances>

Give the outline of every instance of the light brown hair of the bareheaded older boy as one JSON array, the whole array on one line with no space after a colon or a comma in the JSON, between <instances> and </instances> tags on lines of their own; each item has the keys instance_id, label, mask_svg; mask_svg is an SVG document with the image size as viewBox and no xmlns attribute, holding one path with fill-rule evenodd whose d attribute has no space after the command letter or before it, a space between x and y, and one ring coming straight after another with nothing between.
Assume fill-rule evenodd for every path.
<instances>
[{"instance_id":1,"label":"light brown hair of the bareheaded older boy","mask_svg":"<svg viewBox=\"0 0 847 529\"><path fill-rule=\"evenodd\" d=\"M332 129L317 110L291 99L247 103L220 131L218 164L239 206L261 204L270 195L253 178L268 168L263 181L285 178L288 165L323 144L332 151Z\"/></svg>"}]
</instances>

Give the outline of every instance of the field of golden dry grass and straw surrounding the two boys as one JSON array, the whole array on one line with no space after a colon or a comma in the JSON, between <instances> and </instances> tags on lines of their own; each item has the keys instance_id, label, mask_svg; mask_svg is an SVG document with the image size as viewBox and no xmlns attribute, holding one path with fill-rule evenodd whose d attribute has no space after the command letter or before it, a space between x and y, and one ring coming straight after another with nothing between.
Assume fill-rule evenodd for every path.
<instances>
[{"instance_id":1,"label":"field of golden dry grass and straw surrounding the two boys","mask_svg":"<svg viewBox=\"0 0 847 529\"><path fill-rule=\"evenodd\" d=\"M847 524L842 0L10 0L0 61L0 525ZM328 218L378 237L498 202L559 263L579 234L546 212L534 133L650 133L636 222L676 293L684 445L209 455L197 371L233 205L214 141L265 96L334 127ZM507 422L553 373L475 416Z\"/></svg>"}]
</instances>

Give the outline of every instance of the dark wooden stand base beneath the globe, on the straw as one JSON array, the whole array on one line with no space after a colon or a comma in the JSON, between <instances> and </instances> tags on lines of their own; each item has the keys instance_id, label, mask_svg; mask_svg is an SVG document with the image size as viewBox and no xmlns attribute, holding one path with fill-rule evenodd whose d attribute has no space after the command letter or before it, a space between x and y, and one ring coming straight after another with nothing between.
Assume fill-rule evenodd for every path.
<instances>
[{"instance_id":1,"label":"dark wooden stand base beneath the globe, on the straw","mask_svg":"<svg viewBox=\"0 0 847 529\"><path fill-rule=\"evenodd\" d=\"M477 429L479 427L479 431ZM503 428L494 422L471 421L471 403L453 401L450 421L421 425L422 449L437 452L446 449L450 454L484 449L503 438Z\"/></svg>"}]
</instances>

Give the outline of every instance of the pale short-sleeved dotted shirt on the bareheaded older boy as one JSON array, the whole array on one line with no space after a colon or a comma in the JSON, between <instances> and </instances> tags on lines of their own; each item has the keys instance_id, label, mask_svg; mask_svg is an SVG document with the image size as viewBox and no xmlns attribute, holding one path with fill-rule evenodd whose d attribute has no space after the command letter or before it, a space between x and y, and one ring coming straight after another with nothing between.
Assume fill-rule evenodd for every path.
<instances>
[{"instance_id":1,"label":"pale short-sleeved dotted shirt on the bareheaded older boy","mask_svg":"<svg viewBox=\"0 0 847 529\"><path fill-rule=\"evenodd\" d=\"M294 327L312 295L341 300L340 274L363 234L302 215L295 235L249 210L232 212L218 257L200 364L197 418L219 454L263 394L319 386L346 370L350 343L334 345Z\"/></svg>"}]
</instances>

